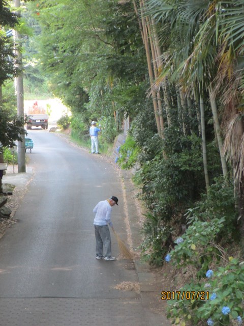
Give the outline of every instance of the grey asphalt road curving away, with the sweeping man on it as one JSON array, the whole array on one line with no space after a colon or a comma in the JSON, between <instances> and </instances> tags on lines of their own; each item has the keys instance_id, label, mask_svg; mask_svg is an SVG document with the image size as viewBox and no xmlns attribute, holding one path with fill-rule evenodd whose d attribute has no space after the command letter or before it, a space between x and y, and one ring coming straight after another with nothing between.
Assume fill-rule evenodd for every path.
<instances>
[{"instance_id":1,"label":"grey asphalt road curving away, with the sweeping man on it","mask_svg":"<svg viewBox=\"0 0 244 326\"><path fill-rule=\"evenodd\" d=\"M0 326L148 326L140 294L115 288L138 281L133 264L95 259L98 201L118 197L112 222L126 233L116 171L46 130L29 130L29 137L34 177L17 223L0 240Z\"/></svg>"}]
</instances>

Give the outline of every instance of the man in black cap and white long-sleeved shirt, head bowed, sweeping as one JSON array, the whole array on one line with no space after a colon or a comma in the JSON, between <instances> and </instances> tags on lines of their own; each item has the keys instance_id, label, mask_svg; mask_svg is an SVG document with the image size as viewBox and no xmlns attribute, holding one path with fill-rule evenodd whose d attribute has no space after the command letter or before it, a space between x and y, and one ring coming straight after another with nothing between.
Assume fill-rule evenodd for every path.
<instances>
[{"instance_id":1,"label":"man in black cap and white long-sleeved shirt, head bowed, sweeping","mask_svg":"<svg viewBox=\"0 0 244 326\"><path fill-rule=\"evenodd\" d=\"M111 256L111 236L108 225L112 228L111 211L112 206L118 205L115 196L100 201L94 208L95 237L96 237L96 259L115 260Z\"/></svg>"}]
</instances>

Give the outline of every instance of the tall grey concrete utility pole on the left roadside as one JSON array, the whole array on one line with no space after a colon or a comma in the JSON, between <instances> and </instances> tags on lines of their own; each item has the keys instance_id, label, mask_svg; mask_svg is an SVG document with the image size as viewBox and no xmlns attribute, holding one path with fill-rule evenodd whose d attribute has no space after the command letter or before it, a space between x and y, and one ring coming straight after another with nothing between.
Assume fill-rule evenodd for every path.
<instances>
[{"instance_id":1,"label":"tall grey concrete utility pole on the left roadside","mask_svg":"<svg viewBox=\"0 0 244 326\"><path fill-rule=\"evenodd\" d=\"M16 11L19 12L20 0L15 0ZM18 45L21 45L21 36L15 31L15 40ZM16 56L18 58L18 67L22 70L22 53L16 48ZM24 86L23 72L16 77L16 93L17 93L17 114L19 117L24 115ZM24 126L23 126L24 127ZM25 144L24 134L20 135L22 142L18 142L18 172L26 172L25 170Z\"/></svg>"}]
</instances>

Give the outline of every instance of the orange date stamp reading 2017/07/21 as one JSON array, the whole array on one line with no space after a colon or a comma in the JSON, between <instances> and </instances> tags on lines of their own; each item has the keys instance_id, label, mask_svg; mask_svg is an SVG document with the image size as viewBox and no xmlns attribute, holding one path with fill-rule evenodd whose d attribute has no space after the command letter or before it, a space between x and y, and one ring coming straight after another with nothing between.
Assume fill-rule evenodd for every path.
<instances>
[{"instance_id":1,"label":"orange date stamp reading 2017/07/21","mask_svg":"<svg viewBox=\"0 0 244 326\"><path fill-rule=\"evenodd\" d=\"M162 291L161 300L208 300L209 291Z\"/></svg>"}]
</instances>

